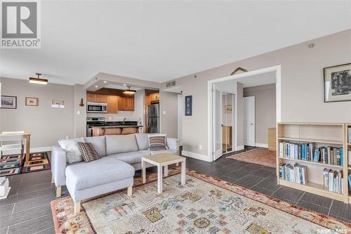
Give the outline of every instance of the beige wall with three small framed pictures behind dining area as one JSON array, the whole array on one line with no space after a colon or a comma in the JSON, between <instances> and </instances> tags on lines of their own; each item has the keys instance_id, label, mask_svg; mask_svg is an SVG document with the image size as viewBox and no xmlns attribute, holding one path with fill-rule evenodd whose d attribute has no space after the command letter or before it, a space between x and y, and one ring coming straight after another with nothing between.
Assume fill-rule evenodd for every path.
<instances>
[{"instance_id":1,"label":"beige wall with three small framed pictures behind dining area","mask_svg":"<svg viewBox=\"0 0 351 234\"><path fill-rule=\"evenodd\" d=\"M17 96L17 109L0 109L0 131L29 132L31 148L50 147L60 138L74 137L74 105L79 104L74 101L74 86L8 78L0 82L1 95ZM25 105L25 97L39 98L39 105ZM53 99L64 99L65 108L51 108Z\"/></svg>"}]
</instances>

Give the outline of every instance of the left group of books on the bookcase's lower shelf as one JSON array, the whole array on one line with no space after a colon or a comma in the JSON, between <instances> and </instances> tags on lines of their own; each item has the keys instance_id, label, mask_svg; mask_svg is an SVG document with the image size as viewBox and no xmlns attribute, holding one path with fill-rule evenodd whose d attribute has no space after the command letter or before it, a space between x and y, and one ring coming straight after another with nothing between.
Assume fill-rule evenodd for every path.
<instances>
[{"instance_id":1,"label":"left group of books on the bookcase's lower shelf","mask_svg":"<svg viewBox=\"0 0 351 234\"><path fill-rule=\"evenodd\" d=\"M280 164L279 176L282 180L291 181L295 183L307 183L307 167L298 163L293 164Z\"/></svg>"}]
</instances>

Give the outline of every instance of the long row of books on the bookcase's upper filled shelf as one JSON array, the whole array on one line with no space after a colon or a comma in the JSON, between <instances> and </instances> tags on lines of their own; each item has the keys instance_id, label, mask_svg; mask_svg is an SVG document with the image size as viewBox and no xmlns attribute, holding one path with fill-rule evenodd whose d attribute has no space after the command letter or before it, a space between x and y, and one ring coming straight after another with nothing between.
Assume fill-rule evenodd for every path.
<instances>
[{"instance_id":1,"label":"long row of books on the bookcase's upper filled shelf","mask_svg":"<svg viewBox=\"0 0 351 234\"><path fill-rule=\"evenodd\" d=\"M279 142L279 157L343 166L343 148L314 148L314 143Z\"/></svg>"}]
</instances>

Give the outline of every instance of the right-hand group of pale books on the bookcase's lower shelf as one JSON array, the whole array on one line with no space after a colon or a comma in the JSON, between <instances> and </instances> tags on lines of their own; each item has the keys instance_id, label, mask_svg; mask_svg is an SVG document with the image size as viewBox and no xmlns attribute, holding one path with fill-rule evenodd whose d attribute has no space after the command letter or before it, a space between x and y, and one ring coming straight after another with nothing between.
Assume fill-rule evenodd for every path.
<instances>
[{"instance_id":1,"label":"right-hand group of pale books on the bookcase's lower shelf","mask_svg":"<svg viewBox=\"0 0 351 234\"><path fill-rule=\"evenodd\" d=\"M324 190L343 193L343 170L334 171L324 168L323 170Z\"/></svg>"}]
</instances>

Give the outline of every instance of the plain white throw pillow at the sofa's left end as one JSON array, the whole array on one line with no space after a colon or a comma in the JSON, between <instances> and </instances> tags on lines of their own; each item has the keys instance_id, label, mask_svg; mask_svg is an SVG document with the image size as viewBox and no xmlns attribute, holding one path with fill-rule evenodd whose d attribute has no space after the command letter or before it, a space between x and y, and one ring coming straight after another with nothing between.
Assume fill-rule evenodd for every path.
<instances>
[{"instance_id":1,"label":"plain white throw pillow at the sofa's left end","mask_svg":"<svg viewBox=\"0 0 351 234\"><path fill-rule=\"evenodd\" d=\"M85 142L84 138L58 141L60 147L67 152L66 156L68 164L84 161L83 157L81 156L81 152L79 151L78 142Z\"/></svg>"}]
</instances>

